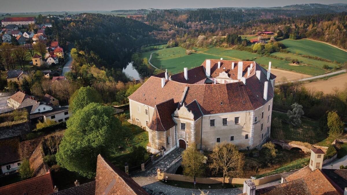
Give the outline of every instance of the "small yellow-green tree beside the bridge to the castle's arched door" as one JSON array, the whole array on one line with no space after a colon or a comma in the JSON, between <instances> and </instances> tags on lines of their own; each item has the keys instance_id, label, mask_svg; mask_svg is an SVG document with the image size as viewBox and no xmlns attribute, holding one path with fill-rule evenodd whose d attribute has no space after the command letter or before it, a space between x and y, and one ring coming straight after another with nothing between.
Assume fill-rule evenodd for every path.
<instances>
[{"instance_id":1,"label":"small yellow-green tree beside the bridge to the castle's arched door","mask_svg":"<svg viewBox=\"0 0 347 195\"><path fill-rule=\"evenodd\" d=\"M183 175L188 177L201 177L205 172L204 161L206 156L196 149L196 144L191 143L182 153Z\"/></svg>"}]
</instances>

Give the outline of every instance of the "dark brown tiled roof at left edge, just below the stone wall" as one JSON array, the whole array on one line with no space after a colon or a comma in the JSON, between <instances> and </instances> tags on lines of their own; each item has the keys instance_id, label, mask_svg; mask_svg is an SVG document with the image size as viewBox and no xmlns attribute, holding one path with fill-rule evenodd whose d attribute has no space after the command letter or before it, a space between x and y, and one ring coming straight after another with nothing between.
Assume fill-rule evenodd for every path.
<instances>
[{"instance_id":1,"label":"dark brown tiled roof at left edge, just below the stone wall","mask_svg":"<svg viewBox=\"0 0 347 195\"><path fill-rule=\"evenodd\" d=\"M0 165L20 160L19 138L1 139L0 140Z\"/></svg>"}]
</instances>

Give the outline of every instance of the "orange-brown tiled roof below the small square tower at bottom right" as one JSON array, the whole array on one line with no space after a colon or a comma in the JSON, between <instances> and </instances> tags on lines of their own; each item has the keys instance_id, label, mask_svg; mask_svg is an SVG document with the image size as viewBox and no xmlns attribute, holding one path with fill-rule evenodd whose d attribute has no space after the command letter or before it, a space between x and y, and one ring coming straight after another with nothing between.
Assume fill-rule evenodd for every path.
<instances>
[{"instance_id":1,"label":"orange-brown tiled roof below the small square tower at bottom right","mask_svg":"<svg viewBox=\"0 0 347 195\"><path fill-rule=\"evenodd\" d=\"M311 194L343 194L343 190L340 189L340 187L338 187L335 183L332 184L332 180L325 177L324 173L320 169L315 169L312 171L310 167L306 166L288 176L286 180L289 182L301 178L305 180Z\"/></svg>"}]
</instances>

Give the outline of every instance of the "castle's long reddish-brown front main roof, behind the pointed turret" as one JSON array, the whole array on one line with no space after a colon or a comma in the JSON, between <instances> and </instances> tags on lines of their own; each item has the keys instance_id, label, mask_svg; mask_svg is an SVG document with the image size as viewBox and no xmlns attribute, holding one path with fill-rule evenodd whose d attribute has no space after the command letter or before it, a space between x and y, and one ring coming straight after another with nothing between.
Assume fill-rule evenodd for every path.
<instances>
[{"instance_id":1,"label":"castle's long reddish-brown front main roof, behind the pointed turret","mask_svg":"<svg viewBox=\"0 0 347 195\"><path fill-rule=\"evenodd\" d=\"M246 64L244 63L244 65ZM255 75L255 69L261 70L263 73L260 74L260 80ZM186 105L196 100L204 115L255 110L274 96L273 88L269 81L268 100L263 99L264 83L268 81L265 73L266 70L264 68L255 64L251 74L246 78L246 85L242 82L199 85L165 80L164 87L161 87L161 78L152 76L128 98L154 108L158 102L174 98L174 102L177 103L184 96ZM186 93L185 87L188 87Z\"/></svg>"}]
</instances>

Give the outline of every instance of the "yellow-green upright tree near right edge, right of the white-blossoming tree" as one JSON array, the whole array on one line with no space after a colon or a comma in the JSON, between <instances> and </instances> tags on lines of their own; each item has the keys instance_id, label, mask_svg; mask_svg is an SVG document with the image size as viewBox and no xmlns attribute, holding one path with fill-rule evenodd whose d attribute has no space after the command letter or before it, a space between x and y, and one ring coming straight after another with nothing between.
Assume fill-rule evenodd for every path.
<instances>
[{"instance_id":1,"label":"yellow-green upright tree near right edge, right of the white-blossoming tree","mask_svg":"<svg viewBox=\"0 0 347 195\"><path fill-rule=\"evenodd\" d=\"M335 111L328 113L329 137L339 139L344 132L344 122L341 121L339 115Z\"/></svg>"}]
</instances>

